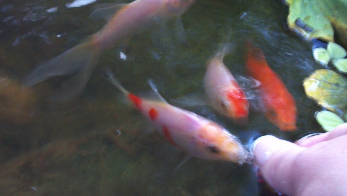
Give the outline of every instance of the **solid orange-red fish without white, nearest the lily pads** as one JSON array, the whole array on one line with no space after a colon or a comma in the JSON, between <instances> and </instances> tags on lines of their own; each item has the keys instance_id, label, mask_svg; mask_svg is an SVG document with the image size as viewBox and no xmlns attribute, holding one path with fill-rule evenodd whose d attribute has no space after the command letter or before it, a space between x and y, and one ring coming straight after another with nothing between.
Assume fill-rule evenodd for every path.
<instances>
[{"instance_id":1,"label":"solid orange-red fish without white, nearest the lily pads","mask_svg":"<svg viewBox=\"0 0 347 196\"><path fill-rule=\"evenodd\" d=\"M246 69L250 76L261 82L260 96L265 116L282 131L295 131L296 105L280 77L269 67L260 48L247 44Z\"/></svg>"}]
</instances>

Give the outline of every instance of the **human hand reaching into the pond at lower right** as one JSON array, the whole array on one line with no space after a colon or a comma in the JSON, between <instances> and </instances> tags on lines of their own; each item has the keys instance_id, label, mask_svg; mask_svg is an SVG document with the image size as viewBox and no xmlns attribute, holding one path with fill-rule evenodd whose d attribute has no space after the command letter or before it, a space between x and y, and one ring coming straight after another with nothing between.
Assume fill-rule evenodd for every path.
<instances>
[{"instance_id":1,"label":"human hand reaching into the pond at lower right","mask_svg":"<svg viewBox=\"0 0 347 196\"><path fill-rule=\"evenodd\" d=\"M253 144L264 180L286 195L347 195L347 123L296 141L263 136Z\"/></svg>"}]
</instances>

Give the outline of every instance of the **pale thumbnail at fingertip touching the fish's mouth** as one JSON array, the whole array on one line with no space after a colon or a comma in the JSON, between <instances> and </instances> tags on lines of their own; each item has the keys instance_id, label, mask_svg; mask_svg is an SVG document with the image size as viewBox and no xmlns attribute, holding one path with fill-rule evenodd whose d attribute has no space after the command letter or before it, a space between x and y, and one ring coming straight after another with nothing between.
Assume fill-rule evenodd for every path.
<instances>
[{"instance_id":1,"label":"pale thumbnail at fingertip touching the fish's mouth","mask_svg":"<svg viewBox=\"0 0 347 196\"><path fill-rule=\"evenodd\" d=\"M281 140L271 135L256 139L251 148L254 153L255 164L260 167L263 166L269 157L280 149L280 146Z\"/></svg>"}]
</instances>

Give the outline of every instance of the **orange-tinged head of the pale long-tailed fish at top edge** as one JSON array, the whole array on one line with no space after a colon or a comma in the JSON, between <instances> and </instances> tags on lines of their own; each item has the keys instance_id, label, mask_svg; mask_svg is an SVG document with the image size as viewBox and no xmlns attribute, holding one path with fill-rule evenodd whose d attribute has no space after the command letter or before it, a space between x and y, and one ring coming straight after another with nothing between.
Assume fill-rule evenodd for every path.
<instances>
[{"instance_id":1,"label":"orange-tinged head of the pale long-tailed fish at top edge","mask_svg":"<svg viewBox=\"0 0 347 196\"><path fill-rule=\"evenodd\" d=\"M179 16L183 14L195 0L166 0L165 8L169 15Z\"/></svg>"}]
</instances>

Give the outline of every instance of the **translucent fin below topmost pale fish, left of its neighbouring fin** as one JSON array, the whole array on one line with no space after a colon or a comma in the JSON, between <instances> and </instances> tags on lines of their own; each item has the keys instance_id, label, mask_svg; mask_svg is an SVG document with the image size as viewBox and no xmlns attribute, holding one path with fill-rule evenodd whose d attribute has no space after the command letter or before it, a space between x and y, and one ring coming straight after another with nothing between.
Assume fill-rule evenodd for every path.
<instances>
[{"instance_id":1,"label":"translucent fin below topmost pale fish, left of its neighbouring fin","mask_svg":"<svg viewBox=\"0 0 347 196\"><path fill-rule=\"evenodd\" d=\"M172 41L171 33L166 22L159 24L158 30L153 32L152 39L155 47L166 52L173 48L174 42Z\"/></svg>"}]
</instances>

